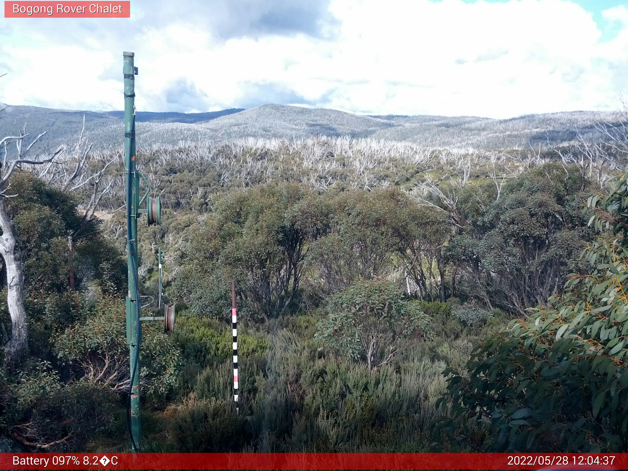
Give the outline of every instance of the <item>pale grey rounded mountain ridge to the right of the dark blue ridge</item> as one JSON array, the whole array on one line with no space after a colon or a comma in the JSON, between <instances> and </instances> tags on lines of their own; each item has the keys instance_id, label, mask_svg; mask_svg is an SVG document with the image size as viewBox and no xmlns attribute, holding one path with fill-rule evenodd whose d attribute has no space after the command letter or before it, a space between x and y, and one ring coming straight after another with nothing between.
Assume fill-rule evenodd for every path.
<instances>
[{"instance_id":1,"label":"pale grey rounded mountain ridge to the right of the dark blue ridge","mask_svg":"<svg viewBox=\"0 0 628 471\"><path fill-rule=\"evenodd\" d=\"M533 114L511 119L477 116L365 116L331 109L263 105L198 126L215 138L303 138L311 134L349 135L409 141L447 148L528 148L563 144L596 133L600 119L614 121L612 113L574 111Z\"/></svg>"}]
</instances>

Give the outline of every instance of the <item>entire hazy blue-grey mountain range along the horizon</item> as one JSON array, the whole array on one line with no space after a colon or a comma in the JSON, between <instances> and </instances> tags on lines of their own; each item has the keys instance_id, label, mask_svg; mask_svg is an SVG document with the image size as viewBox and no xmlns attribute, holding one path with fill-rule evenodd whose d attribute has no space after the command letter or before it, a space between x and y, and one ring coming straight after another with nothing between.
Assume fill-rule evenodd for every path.
<instances>
[{"instance_id":1,"label":"entire hazy blue-grey mountain range along the horizon","mask_svg":"<svg viewBox=\"0 0 628 471\"><path fill-rule=\"evenodd\" d=\"M0 106L0 109L2 107ZM72 144L85 116L85 135L94 148L119 148L124 129L121 111L68 111L8 106L0 112L0 136L26 123L34 138L48 129L41 145L50 149ZM203 140L305 138L312 134L409 141L433 148L529 148L573 142L578 132L594 136L601 119L612 113L574 111L533 114L511 119L477 116L367 116L332 109L263 105L207 113L138 112L138 147L193 143Z\"/></svg>"}]
</instances>

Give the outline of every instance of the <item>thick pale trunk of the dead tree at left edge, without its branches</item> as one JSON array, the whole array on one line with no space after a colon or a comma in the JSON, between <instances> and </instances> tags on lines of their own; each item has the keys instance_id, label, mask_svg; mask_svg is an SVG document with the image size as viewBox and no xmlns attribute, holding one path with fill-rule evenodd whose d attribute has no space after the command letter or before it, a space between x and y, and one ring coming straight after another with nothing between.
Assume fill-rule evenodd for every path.
<instances>
[{"instance_id":1,"label":"thick pale trunk of the dead tree at left edge, without its branches","mask_svg":"<svg viewBox=\"0 0 628 471\"><path fill-rule=\"evenodd\" d=\"M0 252L6 266L8 285L7 305L11 316L11 340L4 351L4 367L14 368L28 348L28 327L24 310L24 272L22 251L18 245L18 232L13 220L6 214L6 200L0 197Z\"/></svg>"}]
</instances>

